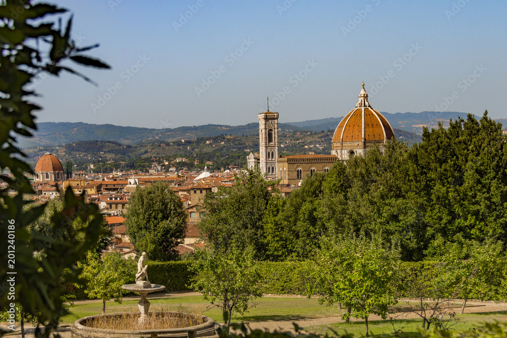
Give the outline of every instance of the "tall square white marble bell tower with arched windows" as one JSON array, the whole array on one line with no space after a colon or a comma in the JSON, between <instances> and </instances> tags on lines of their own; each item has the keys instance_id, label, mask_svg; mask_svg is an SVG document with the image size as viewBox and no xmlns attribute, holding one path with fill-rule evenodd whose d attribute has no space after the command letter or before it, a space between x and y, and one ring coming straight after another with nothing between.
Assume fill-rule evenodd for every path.
<instances>
[{"instance_id":1,"label":"tall square white marble bell tower with arched windows","mask_svg":"<svg viewBox=\"0 0 507 338\"><path fill-rule=\"evenodd\" d=\"M278 113L259 114L259 170L269 178L277 178Z\"/></svg>"}]
</instances>

